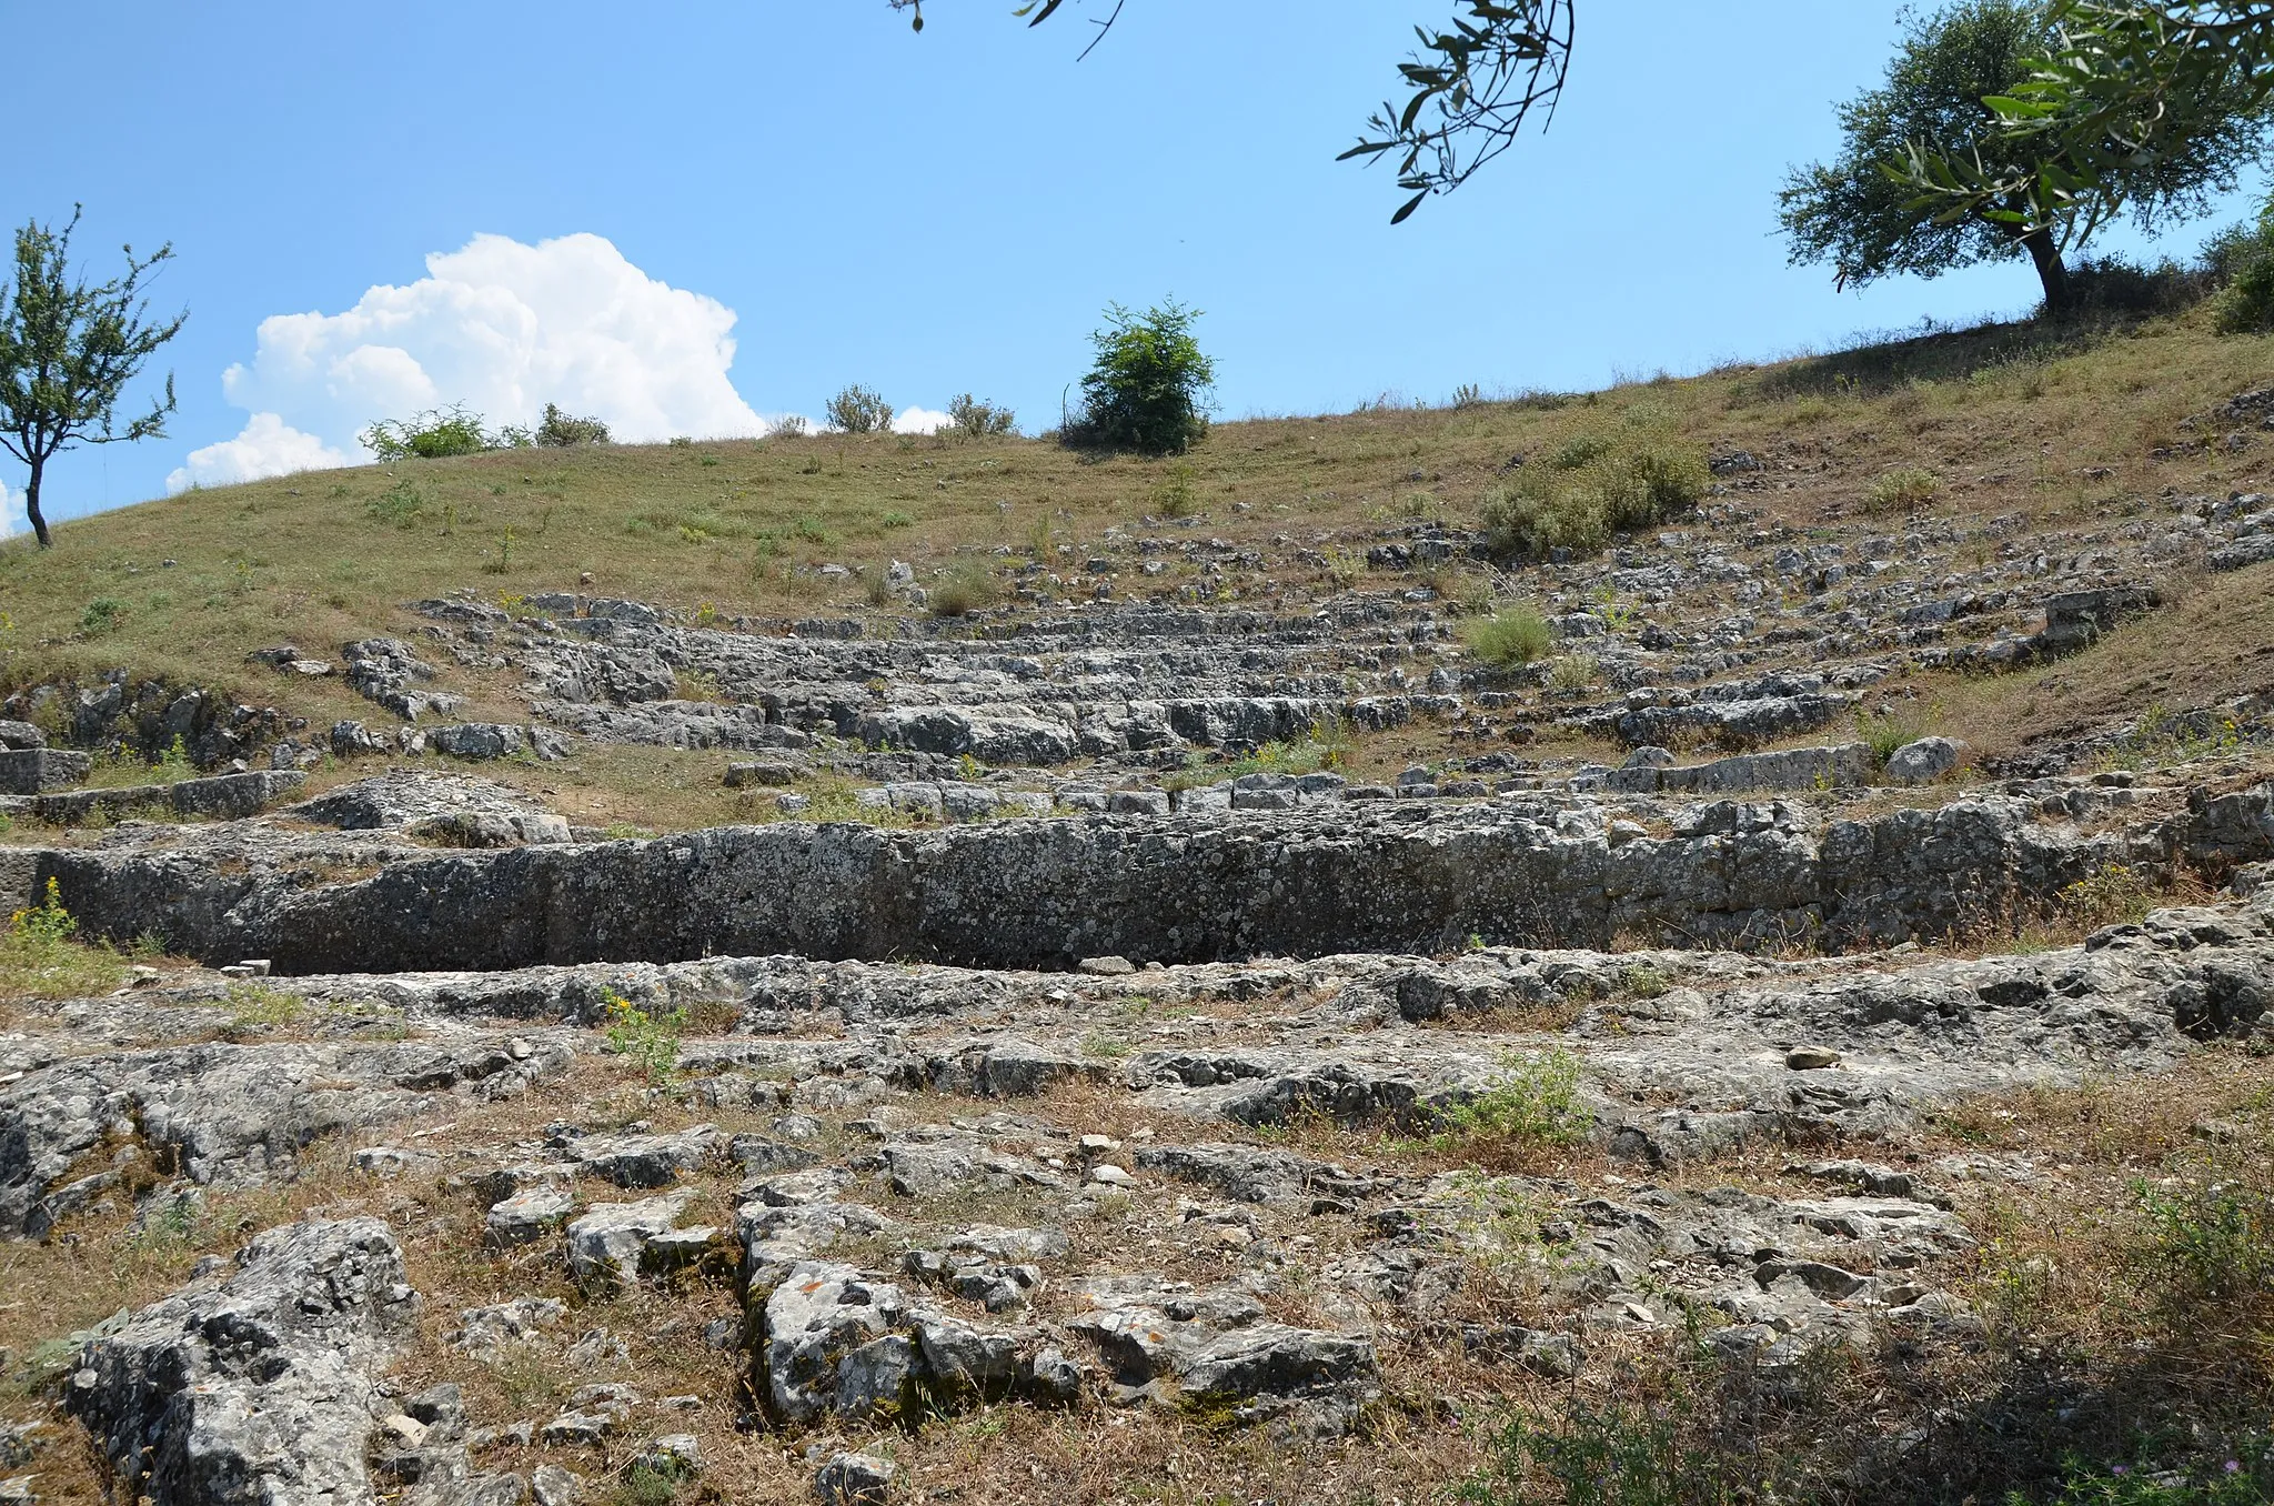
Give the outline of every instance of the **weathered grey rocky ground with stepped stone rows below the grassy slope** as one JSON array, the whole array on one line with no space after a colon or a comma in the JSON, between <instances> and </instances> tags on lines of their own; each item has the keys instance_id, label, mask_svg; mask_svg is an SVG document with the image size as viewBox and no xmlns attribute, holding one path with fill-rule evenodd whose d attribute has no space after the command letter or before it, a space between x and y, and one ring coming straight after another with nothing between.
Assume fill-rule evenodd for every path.
<instances>
[{"instance_id":1,"label":"weathered grey rocky ground with stepped stone rows below the grassy slope","mask_svg":"<svg viewBox=\"0 0 2274 1506\"><path fill-rule=\"evenodd\" d=\"M1537 571L1524 667L1476 535L1160 521L978 619L464 591L277 708L18 692L16 946L118 951L0 1001L0 1499L1433 1499L1665 1356L1994 1349L2083 1151L1951 1126L2274 1044L2274 703L1978 755L1917 687L2274 510L1801 532L1774 464ZM134 717L209 771L50 746ZM746 819L548 801L639 748Z\"/></svg>"}]
</instances>

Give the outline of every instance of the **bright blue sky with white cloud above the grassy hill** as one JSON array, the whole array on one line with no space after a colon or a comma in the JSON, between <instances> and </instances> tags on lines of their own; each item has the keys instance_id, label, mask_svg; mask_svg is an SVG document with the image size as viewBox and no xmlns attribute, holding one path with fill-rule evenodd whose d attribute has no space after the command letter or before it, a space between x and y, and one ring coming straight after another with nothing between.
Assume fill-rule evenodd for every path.
<instances>
[{"instance_id":1,"label":"bright blue sky with white cloud above the grassy hill","mask_svg":"<svg viewBox=\"0 0 2274 1506\"><path fill-rule=\"evenodd\" d=\"M1078 7L1032 32L1010 0L926 9L914 36L885 0L0 0L43 59L14 114L68 134L9 164L0 216L84 202L96 271L171 239L157 303L191 309L171 437L64 457L50 514L216 480L277 430L346 455L418 380L648 432L819 414L846 382L1039 428L1098 309L1167 293L1205 309L1226 416L1594 387L2035 298L2026 264L1865 293L1785 266L1776 187L1881 75L1892 0L1587 0L1553 130L1401 227L1389 175L1333 157L1451 0L1128 0L1080 64ZM614 253L530 250L562 237ZM464 255L421 282L437 253ZM264 344L275 314L332 318ZM514 382L482 366L500 339ZM0 482L20 507L20 469Z\"/></svg>"}]
</instances>

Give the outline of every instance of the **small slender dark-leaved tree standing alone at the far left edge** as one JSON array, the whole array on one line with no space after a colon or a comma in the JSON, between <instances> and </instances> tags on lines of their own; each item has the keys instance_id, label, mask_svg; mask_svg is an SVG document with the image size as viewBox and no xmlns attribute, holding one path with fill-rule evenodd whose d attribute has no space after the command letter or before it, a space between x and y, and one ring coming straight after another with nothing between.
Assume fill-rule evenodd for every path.
<instances>
[{"instance_id":1,"label":"small slender dark-leaved tree standing alone at the far left edge","mask_svg":"<svg viewBox=\"0 0 2274 1506\"><path fill-rule=\"evenodd\" d=\"M57 232L25 221L16 232L16 280L0 287L0 448L30 466L23 512L48 548L39 487L48 462L82 444L164 439L173 412L173 378L150 412L118 425L118 398L159 346L182 332L189 314L150 321L143 280L173 257L173 246L136 259L109 282L73 282L70 234L80 212Z\"/></svg>"}]
</instances>

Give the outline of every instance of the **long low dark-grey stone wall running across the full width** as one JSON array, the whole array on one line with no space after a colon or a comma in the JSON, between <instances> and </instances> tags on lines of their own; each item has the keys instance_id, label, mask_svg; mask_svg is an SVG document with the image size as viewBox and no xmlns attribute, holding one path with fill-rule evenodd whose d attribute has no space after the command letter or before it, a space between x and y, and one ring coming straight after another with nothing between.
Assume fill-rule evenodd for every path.
<instances>
[{"instance_id":1,"label":"long low dark-grey stone wall running across the full width","mask_svg":"<svg viewBox=\"0 0 2274 1506\"><path fill-rule=\"evenodd\" d=\"M159 930L280 974L800 953L1064 967L1444 951L1471 937L1608 946L1899 942L1997 921L2110 862L2156 871L2274 853L2265 785L2083 835L2031 801L1810 828L1719 803L1671 837L1549 826L1494 805L1016 819L944 830L730 826L653 842L407 855L316 883L200 851L43 851L36 889L93 935ZM16 864L18 869L25 864Z\"/></svg>"}]
</instances>

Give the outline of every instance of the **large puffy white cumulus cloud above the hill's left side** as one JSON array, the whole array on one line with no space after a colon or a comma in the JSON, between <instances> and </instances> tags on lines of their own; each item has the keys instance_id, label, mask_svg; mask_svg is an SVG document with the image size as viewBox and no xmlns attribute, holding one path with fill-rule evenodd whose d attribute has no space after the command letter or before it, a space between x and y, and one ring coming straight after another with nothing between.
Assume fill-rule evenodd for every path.
<instances>
[{"instance_id":1,"label":"large puffy white cumulus cloud above the hill's left side","mask_svg":"<svg viewBox=\"0 0 2274 1506\"><path fill-rule=\"evenodd\" d=\"M221 378L252 414L246 430L193 453L168 485L368 460L357 435L375 419L448 403L493 428L559 403L634 444L762 435L766 421L728 380L732 328L735 309L657 282L603 237L478 234L343 314L264 318L252 362Z\"/></svg>"}]
</instances>

